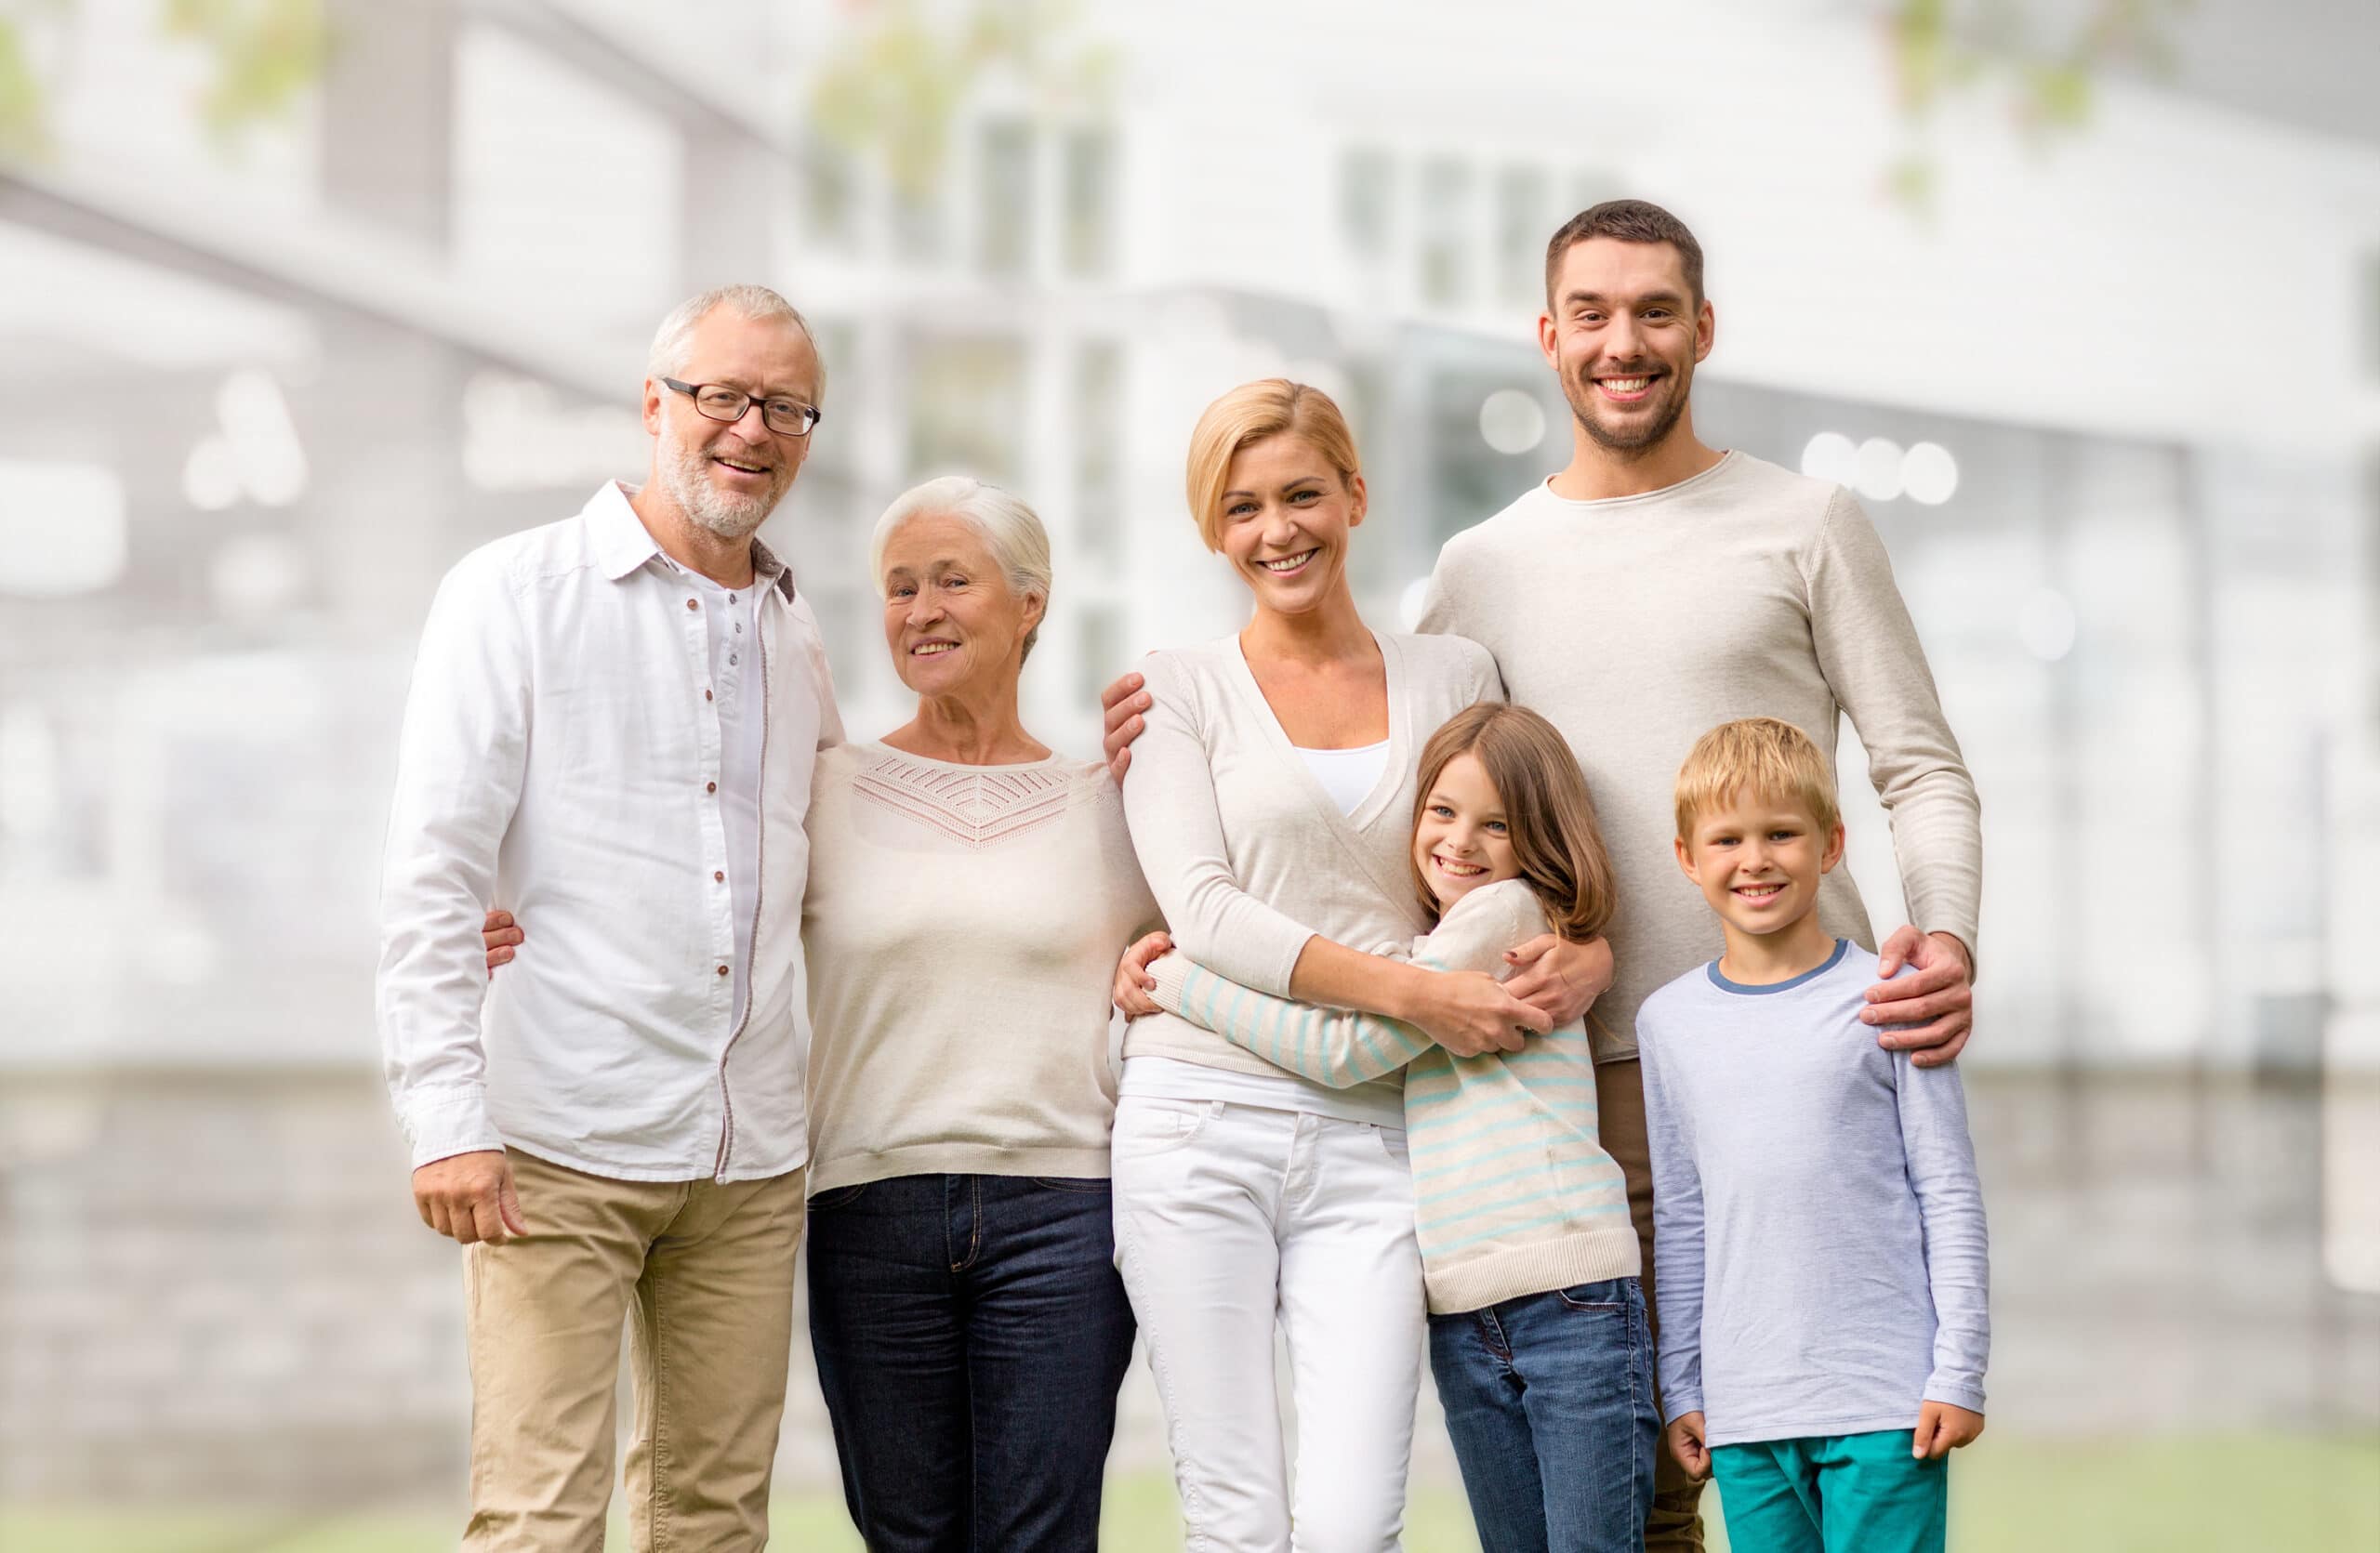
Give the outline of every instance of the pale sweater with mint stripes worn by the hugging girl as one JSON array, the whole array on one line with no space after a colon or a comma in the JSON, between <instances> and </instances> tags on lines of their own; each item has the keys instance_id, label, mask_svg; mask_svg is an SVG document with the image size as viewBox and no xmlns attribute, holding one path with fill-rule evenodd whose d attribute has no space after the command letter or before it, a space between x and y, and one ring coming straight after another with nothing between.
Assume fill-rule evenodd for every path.
<instances>
[{"instance_id":1,"label":"pale sweater with mint stripes worn by the hugging girl","mask_svg":"<svg viewBox=\"0 0 2380 1553\"><path fill-rule=\"evenodd\" d=\"M1473 889L1411 958L1433 970L1507 975L1504 951L1545 932L1521 880ZM1169 954L1154 999L1192 1025L1333 1087L1404 1068L1414 1220L1430 1310L1478 1310L1637 1275L1628 1187L1595 1137L1595 1056L1583 1025L1523 1051L1452 1056L1411 1025L1266 996Z\"/></svg>"}]
</instances>

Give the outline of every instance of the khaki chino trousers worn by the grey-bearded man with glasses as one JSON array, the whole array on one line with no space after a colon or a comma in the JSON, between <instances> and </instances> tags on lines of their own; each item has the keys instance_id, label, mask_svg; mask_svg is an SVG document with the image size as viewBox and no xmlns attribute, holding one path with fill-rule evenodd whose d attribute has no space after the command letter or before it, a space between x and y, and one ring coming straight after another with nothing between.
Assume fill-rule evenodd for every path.
<instances>
[{"instance_id":1,"label":"khaki chino trousers worn by the grey-bearded man with glasses","mask_svg":"<svg viewBox=\"0 0 2380 1553\"><path fill-rule=\"evenodd\" d=\"M507 1149L528 1234L464 1246L469 1553L597 1553L633 1318L638 1553L769 1539L802 1172L619 1182Z\"/></svg>"}]
</instances>

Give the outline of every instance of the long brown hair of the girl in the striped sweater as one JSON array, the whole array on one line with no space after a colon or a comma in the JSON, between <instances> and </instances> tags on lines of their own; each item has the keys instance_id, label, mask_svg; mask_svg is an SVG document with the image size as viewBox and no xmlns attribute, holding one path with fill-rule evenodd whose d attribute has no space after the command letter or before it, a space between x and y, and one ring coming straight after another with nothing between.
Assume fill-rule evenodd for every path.
<instances>
[{"instance_id":1,"label":"long brown hair of the girl in the striped sweater","mask_svg":"<svg viewBox=\"0 0 2380 1553\"><path fill-rule=\"evenodd\" d=\"M1526 706L1478 702L1457 711L1421 747L1421 775L1414 780L1414 830L1430 809L1438 775L1459 754L1473 756L1504 801L1504 828L1511 854L1521 863L1554 932L1566 939L1590 939L1611 925L1614 885L1611 854L1604 851L1604 828L1595 823L1595 799L1578 756L1561 733ZM1421 908L1438 920L1438 897L1430 894L1421 866L1407 854Z\"/></svg>"}]
</instances>

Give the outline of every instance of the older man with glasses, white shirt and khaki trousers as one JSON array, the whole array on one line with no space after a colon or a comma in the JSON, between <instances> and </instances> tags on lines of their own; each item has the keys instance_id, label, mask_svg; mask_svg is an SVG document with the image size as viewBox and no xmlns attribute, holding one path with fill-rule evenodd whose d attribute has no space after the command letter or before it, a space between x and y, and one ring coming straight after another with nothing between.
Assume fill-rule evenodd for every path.
<instances>
[{"instance_id":1,"label":"older man with glasses, white shirt and khaki trousers","mask_svg":"<svg viewBox=\"0 0 2380 1553\"><path fill-rule=\"evenodd\" d=\"M802 813L843 740L754 537L809 452L816 342L688 300L652 473L462 559L405 709L378 1025L421 1220L464 1246L466 1548L602 1543L621 1320L638 1548L757 1548L809 1158ZM536 942L488 987L483 911Z\"/></svg>"}]
</instances>

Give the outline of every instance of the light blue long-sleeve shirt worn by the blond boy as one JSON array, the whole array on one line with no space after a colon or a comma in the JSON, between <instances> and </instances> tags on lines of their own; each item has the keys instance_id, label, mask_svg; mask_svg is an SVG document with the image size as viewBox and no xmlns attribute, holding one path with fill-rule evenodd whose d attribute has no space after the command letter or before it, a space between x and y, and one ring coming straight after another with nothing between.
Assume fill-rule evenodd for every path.
<instances>
[{"instance_id":1,"label":"light blue long-sleeve shirt worn by the blond boy","mask_svg":"<svg viewBox=\"0 0 2380 1553\"><path fill-rule=\"evenodd\" d=\"M1983 1413L1990 1258L1954 1063L1859 1020L1875 956L1742 987L1699 966L1637 1016L1666 1420L1714 1446Z\"/></svg>"}]
</instances>

